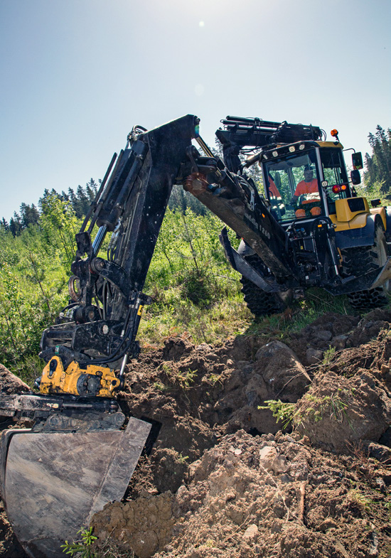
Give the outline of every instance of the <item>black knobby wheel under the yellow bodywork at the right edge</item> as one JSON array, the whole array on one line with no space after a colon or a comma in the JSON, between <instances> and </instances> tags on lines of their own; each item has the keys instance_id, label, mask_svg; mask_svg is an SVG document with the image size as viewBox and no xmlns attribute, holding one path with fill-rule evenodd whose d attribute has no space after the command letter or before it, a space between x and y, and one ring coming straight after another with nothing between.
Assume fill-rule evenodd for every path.
<instances>
[{"instance_id":1,"label":"black knobby wheel under the yellow bodywork at the right edge","mask_svg":"<svg viewBox=\"0 0 391 558\"><path fill-rule=\"evenodd\" d=\"M363 275L373 271L387 262L388 247L385 240L385 232L380 223L375 228L375 244L358 248L348 248L341 250L343 258L343 274ZM379 308L388 302L387 293L390 289L390 281L386 281L382 286L365 291L357 291L348 294L350 305L358 310L369 308Z\"/></svg>"}]
</instances>

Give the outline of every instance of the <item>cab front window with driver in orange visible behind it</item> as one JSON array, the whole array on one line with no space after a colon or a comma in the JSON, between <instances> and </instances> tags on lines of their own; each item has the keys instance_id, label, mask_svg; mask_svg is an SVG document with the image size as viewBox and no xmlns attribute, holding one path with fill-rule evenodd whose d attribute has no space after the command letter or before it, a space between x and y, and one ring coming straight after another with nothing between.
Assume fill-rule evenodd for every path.
<instances>
[{"instance_id":1,"label":"cab front window with driver in orange visible behind it","mask_svg":"<svg viewBox=\"0 0 391 558\"><path fill-rule=\"evenodd\" d=\"M323 214L316 151L276 157L264 163L267 197L280 222Z\"/></svg>"}]
</instances>

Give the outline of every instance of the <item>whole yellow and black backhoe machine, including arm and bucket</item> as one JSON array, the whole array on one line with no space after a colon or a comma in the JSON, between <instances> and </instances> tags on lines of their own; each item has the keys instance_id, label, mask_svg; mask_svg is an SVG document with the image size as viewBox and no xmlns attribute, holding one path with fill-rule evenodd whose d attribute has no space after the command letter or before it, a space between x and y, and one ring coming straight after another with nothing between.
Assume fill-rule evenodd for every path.
<instances>
[{"instance_id":1,"label":"whole yellow and black backhoe machine, including arm and bucket","mask_svg":"<svg viewBox=\"0 0 391 558\"><path fill-rule=\"evenodd\" d=\"M387 301L391 208L378 200L370 208L355 193L360 154L349 181L338 136L325 141L318 127L286 122L222 122L223 158L191 114L132 129L76 235L70 301L43 332L37 390L0 396L0 414L28 426L3 432L0 454L1 496L28 556L63 556L65 539L120 500L150 436L153 417L127 416L117 393L139 354L136 333L151 303L144 281L174 184L242 237L238 250L226 229L220 240L253 313L281 311L311 286L348 294L356 308Z\"/></svg>"}]
</instances>

